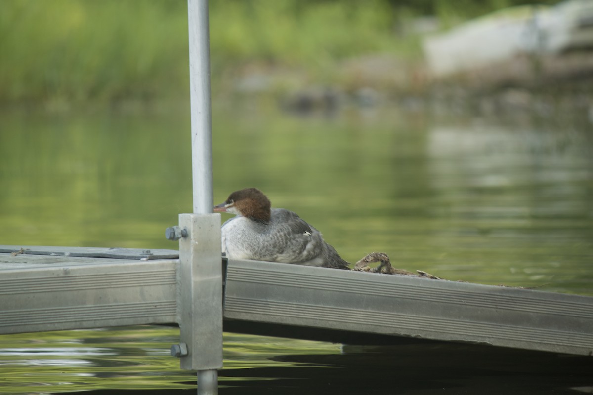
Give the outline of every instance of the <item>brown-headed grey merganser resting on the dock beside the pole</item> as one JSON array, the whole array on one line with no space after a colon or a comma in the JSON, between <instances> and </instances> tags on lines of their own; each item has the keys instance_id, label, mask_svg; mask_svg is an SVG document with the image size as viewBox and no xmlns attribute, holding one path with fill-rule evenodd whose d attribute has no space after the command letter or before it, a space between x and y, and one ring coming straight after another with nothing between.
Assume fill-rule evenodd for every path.
<instances>
[{"instance_id":1,"label":"brown-headed grey merganser resting on the dock beside the pole","mask_svg":"<svg viewBox=\"0 0 593 395\"><path fill-rule=\"evenodd\" d=\"M222 224L228 258L350 269L317 229L292 211L271 208L257 188L232 192L214 211L236 214Z\"/></svg>"}]
</instances>

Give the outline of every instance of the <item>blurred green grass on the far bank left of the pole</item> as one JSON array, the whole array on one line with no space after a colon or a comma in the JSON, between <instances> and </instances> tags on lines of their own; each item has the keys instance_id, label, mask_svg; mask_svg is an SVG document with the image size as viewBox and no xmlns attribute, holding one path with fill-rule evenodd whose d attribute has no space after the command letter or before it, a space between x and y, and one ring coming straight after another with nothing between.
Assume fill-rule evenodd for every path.
<instances>
[{"instance_id":1,"label":"blurred green grass on the far bank left of the pole","mask_svg":"<svg viewBox=\"0 0 593 395\"><path fill-rule=\"evenodd\" d=\"M0 100L149 98L187 79L185 4L0 3Z\"/></svg>"}]
</instances>

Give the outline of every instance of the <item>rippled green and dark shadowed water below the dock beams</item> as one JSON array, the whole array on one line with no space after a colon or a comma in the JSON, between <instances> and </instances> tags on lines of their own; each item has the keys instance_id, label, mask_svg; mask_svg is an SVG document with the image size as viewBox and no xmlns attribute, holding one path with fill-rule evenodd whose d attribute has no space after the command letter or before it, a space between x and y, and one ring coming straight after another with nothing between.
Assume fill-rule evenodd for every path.
<instances>
[{"instance_id":1,"label":"rippled green and dark shadowed water below the dock beams","mask_svg":"<svg viewBox=\"0 0 593 395\"><path fill-rule=\"evenodd\" d=\"M151 326L0 336L0 393L195 393L195 375L179 370L168 353L177 341L176 328ZM574 394L570 388L587 392L593 385L589 357L443 343L340 346L232 333L224 344L221 395ZM5 347L21 351L5 354ZM91 351L97 349L104 354Z\"/></svg>"}]
</instances>

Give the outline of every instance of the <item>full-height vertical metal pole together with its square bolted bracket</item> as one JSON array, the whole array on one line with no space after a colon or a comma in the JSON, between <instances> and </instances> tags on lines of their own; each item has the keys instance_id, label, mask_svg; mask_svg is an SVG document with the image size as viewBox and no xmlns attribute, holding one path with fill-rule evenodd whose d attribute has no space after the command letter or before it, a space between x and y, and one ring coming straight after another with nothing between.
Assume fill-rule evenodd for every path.
<instances>
[{"instance_id":1,"label":"full-height vertical metal pole together with its square bolted bracket","mask_svg":"<svg viewBox=\"0 0 593 395\"><path fill-rule=\"evenodd\" d=\"M192 111L193 214L180 214L180 338L187 345L181 368L197 370L197 393L218 394L222 368L220 214L213 214L212 115L208 0L188 0Z\"/></svg>"}]
</instances>

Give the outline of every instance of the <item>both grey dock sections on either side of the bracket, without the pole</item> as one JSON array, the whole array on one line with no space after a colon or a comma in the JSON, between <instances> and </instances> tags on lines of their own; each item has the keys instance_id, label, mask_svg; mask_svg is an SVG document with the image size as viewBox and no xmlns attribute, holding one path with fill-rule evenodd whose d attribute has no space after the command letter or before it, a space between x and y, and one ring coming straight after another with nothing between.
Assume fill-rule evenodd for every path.
<instances>
[{"instance_id":1,"label":"both grey dock sections on either side of the bracket, without the pole","mask_svg":"<svg viewBox=\"0 0 593 395\"><path fill-rule=\"evenodd\" d=\"M178 256L174 250L0 246L0 333L183 327ZM593 297L272 262L221 264L229 332L593 355Z\"/></svg>"}]
</instances>

